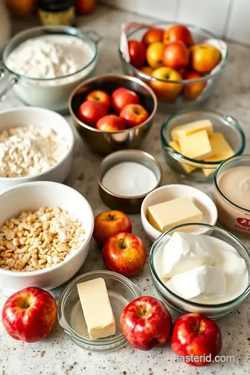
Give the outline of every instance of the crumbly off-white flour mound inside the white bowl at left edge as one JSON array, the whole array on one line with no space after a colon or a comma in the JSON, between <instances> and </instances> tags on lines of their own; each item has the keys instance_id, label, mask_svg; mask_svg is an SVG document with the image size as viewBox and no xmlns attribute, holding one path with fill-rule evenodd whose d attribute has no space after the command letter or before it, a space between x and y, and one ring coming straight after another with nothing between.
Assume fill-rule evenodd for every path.
<instances>
[{"instance_id":1,"label":"crumbly off-white flour mound inside the white bowl at left edge","mask_svg":"<svg viewBox=\"0 0 250 375\"><path fill-rule=\"evenodd\" d=\"M33 176L56 165L67 153L67 141L51 128L17 126L0 133L0 176Z\"/></svg>"}]
</instances>

